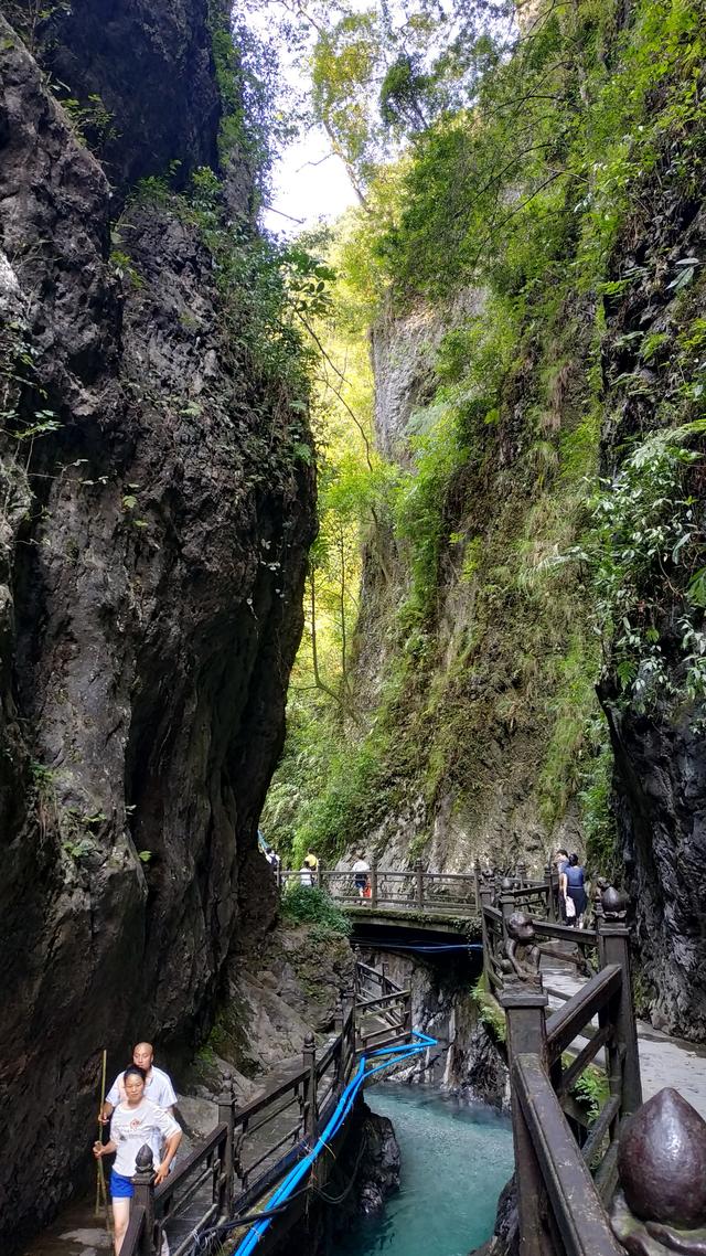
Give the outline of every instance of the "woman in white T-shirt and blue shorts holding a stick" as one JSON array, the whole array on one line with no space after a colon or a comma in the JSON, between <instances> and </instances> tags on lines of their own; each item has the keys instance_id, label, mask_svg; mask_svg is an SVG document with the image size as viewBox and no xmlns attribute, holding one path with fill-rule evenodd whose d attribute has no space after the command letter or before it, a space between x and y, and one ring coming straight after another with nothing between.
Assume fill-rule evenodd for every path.
<instances>
[{"instance_id":1,"label":"woman in white T-shirt and blue shorts holding a stick","mask_svg":"<svg viewBox=\"0 0 706 1256\"><path fill-rule=\"evenodd\" d=\"M123 1086L126 1096L119 1099L113 1109L108 1142L93 1144L95 1159L116 1153L111 1171L116 1256L121 1253L129 1222L129 1201L134 1194L131 1179L137 1172L137 1153L146 1143L152 1148L157 1166L155 1186L160 1186L170 1172L170 1164L182 1138L175 1118L151 1099L146 1099L143 1069L131 1064L123 1073ZM162 1143L166 1143L163 1154Z\"/></svg>"}]
</instances>

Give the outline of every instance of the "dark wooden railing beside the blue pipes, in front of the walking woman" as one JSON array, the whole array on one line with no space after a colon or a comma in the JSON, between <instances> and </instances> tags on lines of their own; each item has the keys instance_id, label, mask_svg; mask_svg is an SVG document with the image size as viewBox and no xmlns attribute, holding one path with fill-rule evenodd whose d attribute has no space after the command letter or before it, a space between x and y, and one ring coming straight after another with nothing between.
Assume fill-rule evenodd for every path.
<instances>
[{"instance_id":1,"label":"dark wooden railing beside the blue pipes, in front of the walking woman","mask_svg":"<svg viewBox=\"0 0 706 1256\"><path fill-rule=\"evenodd\" d=\"M152 1152L142 1148L122 1256L156 1256L165 1233L171 1256L186 1256L210 1226L253 1208L324 1129L361 1053L408 1041L411 1015L408 990L358 963L319 1056L309 1035L301 1066L240 1108L229 1084L216 1127L157 1188Z\"/></svg>"}]
</instances>

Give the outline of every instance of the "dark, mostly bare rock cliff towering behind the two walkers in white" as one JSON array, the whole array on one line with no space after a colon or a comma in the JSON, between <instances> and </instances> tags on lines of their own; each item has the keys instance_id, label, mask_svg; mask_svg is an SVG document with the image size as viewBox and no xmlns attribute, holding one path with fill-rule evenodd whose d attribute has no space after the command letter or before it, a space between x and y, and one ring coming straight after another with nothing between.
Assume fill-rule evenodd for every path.
<instances>
[{"instance_id":1,"label":"dark, mostly bare rock cliff towering behind the two walkers in white","mask_svg":"<svg viewBox=\"0 0 706 1256\"><path fill-rule=\"evenodd\" d=\"M133 186L224 173L207 4L30 8L0 20L3 1251L85 1164L100 1049L187 1058L271 923L313 535L294 377L237 332L204 217ZM100 95L102 161L39 60Z\"/></svg>"}]
</instances>

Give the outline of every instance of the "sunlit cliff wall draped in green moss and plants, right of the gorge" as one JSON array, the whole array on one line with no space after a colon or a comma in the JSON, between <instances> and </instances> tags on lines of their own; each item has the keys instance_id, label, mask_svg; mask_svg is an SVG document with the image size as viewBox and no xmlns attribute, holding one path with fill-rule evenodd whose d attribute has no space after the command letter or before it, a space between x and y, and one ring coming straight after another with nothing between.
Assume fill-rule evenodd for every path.
<instances>
[{"instance_id":1,"label":"sunlit cliff wall draped in green moss and plants, right of the gorge","mask_svg":"<svg viewBox=\"0 0 706 1256\"><path fill-rule=\"evenodd\" d=\"M406 487L366 554L352 687L379 762L366 774L361 756L343 863L367 843L381 868L523 855L539 870L557 844L577 849L631 893L641 1011L702 1040L702 26L695 10L660 64L656 13L598 23L582 51L590 92L578 68L578 132L590 147L600 117L603 142L624 146L621 195L602 187L595 151L589 191L567 191L565 234L534 270L533 191L536 220L497 232L480 270L485 304L451 304L451 268L436 304L438 274L426 304L392 276L373 332L376 428ZM614 84L629 90L636 65L639 108L619 121ZM397 254L411 285L435 168L420 163ZM443 168L450 203L462 167ZM437 271L461 266L456 226L438 231L425 237Z\"/></svg>"}]
</instances>

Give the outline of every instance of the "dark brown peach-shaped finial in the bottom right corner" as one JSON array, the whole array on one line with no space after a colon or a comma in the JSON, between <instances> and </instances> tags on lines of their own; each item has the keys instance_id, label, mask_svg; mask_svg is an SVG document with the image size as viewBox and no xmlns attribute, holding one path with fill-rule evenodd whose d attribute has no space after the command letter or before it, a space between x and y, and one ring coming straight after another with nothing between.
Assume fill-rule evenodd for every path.
<instances>
[{"instance_id":1,"label":"dark brown peach-shaped finial in the bottom right corner","mask_svg":"<svg viewBox=\"0 0 706 1256\"><path fill-rule=\"evenodd\" d=\"M611 1223L636 1256L706 1252L706 1122L667 1086L626 1122Z\"/></svg>"}]
</instances>

